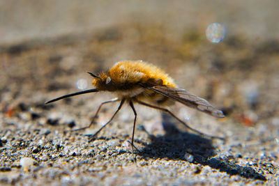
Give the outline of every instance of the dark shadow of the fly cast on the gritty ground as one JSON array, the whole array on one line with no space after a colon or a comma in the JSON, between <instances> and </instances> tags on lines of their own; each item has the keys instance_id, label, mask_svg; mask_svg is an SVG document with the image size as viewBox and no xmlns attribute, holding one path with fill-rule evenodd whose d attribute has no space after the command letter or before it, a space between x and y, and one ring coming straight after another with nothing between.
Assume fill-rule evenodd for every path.
<instances>
[{"instance_id":1,"label":"dark shadow of the fly cast on the gritty ground","mask_svg":"<svg viewBox=\"0 0 279 186\"><path fill-rule=\"evenodd\" d=\"M169 160L186 161L185 155L188 153L193 156L193 164L208 165L231 176L239 175L243 178L266 180L262 174L257 173L250 166L240 166L229 161L229 158L214 157L216 152L211 139L179 131L172 118L167 114L163 114L163 127L165 135L155 137L149 134L151 143L142 148L138 155L153 159L167 158Z\"/></svg>"}]
</instances>

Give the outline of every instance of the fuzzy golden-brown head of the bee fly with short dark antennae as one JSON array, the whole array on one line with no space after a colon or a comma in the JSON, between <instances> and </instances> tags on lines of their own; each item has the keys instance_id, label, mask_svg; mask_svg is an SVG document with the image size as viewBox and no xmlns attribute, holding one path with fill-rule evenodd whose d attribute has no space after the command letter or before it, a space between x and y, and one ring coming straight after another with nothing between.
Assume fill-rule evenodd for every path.
<instances>
[{"instance_id":1,"label":"fuzzy golden-brown head of the bee fly with short dark antennae","mask_svg":"<svg viewBox=\"0 0 279 186\"><path fill-rule=\"evenodd\" d=\"M99 91L114 91L114 84L112 78L107 73L101 73L100 75L93 75L91 72L88 72L93 79L93 86L95 86Z\"/></svg>"}]
</instances>

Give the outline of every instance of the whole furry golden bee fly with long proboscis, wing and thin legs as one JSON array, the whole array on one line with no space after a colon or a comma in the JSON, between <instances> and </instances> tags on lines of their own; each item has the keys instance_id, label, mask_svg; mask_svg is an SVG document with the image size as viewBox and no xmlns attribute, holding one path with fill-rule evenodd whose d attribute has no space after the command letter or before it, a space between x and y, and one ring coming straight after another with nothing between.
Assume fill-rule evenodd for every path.
<instances>
[{"instance_id":1,"label":"whole furry golden bee fly with long proboscis, wing and thin legs","mask_svg":"<svg viewBox=\"0 0 279 186\"><path fill-rule=\"evenodd\" d=\"M177 121L185 125L188 129L206 137L212 136L206 135L188 126L184 121L165 108L165 106L172 105L174 102L181 102L188 107L203 111L211 116L216 116L218 118L225 117L222 111L213 107L206 100L199 98L196 95L192 95L188 93L188 91L177 88L176 84L174 84L174 80L169 77L169 75L151 63L146 63L144 61L120 61L110 70L100 73L100 75L94 75L91 72L88 73L94 78L92 84L96 88L63 95L45 103L56 102L57 100L84 93L96 93L100 91L109 91L114 93L116 98L102 102L98 107L95 116L93 116L91 123L87 127L77 129L84 130L91 127L104 104L120 102L119 107L114 112L112 118L110 118L110 120L107 121L103 127L100 127L100 129L91 136L89 141L93 141L96 135L112 121L114 116L116 116L123 106L124 102L127 102L130 105L135 114L131 142L132 146L135 134L135 124L137 121L137 111L135 110L134 103L142 104L146 107L151 107L160 111L165 111Z\"/></svg>"}]
</instances>

